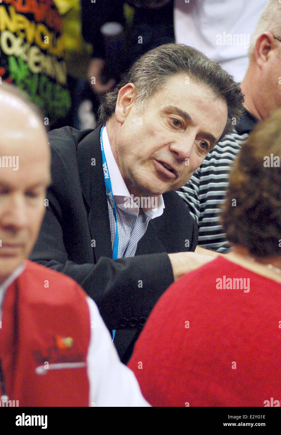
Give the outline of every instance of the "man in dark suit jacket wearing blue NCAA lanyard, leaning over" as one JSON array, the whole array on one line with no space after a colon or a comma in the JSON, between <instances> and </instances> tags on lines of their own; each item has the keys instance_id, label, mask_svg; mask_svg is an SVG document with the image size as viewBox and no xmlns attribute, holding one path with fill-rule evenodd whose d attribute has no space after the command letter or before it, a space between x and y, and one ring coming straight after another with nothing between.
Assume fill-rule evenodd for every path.
<instances>
[{"instance_id":1,"label":"man in dark suit jacket wearing blue NCAA lanyard, leaning over","mask_svg":"<svg viewBox=\"0 0 281 435\"><path fill-rule=\"evenodd\" d=\"M167 44L107 95L102 131L49 134L52 185L31 259L96 301L124 362L169 284L209 260L184 252L195 250L197 228L174 190L229 131L241 101L218 64Z\"/></svg>"}]
</instances>

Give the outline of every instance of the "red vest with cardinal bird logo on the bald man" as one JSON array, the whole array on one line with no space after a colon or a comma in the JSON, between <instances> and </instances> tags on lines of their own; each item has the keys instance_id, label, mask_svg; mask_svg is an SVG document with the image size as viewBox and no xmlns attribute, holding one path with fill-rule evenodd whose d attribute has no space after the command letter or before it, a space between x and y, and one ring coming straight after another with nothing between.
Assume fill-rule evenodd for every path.
<instances>
[{"instance_id":1,"label":"red vest with cardinal bird logo on the bald man","mask_svg":"<svg viewBox=\"0 0 281 435\"><path fill-rule=\"evenodd\" d=\"M26 261L6 290L1 321L0 359L10 400L19 406L89 406L89 307L76 282Z\"/></svg>"}]
</instances>

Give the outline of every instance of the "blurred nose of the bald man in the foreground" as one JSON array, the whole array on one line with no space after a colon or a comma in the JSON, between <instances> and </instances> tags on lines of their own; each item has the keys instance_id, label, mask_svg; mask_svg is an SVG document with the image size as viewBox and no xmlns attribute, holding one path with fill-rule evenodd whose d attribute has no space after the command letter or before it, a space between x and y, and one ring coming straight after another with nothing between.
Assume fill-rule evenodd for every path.
<instances>
[{"instance_id":1,"label":"blurred nose of the bald man in the foreground","mask_svg":"<svg viewBox=\"0 0 281 435\"><path fill-rule=\"evenodd\" d=\"M26 200L23 194L8 195L0 202L0 220L2 226L24 228L28 223Z\"/></svg>"}]
</instances>

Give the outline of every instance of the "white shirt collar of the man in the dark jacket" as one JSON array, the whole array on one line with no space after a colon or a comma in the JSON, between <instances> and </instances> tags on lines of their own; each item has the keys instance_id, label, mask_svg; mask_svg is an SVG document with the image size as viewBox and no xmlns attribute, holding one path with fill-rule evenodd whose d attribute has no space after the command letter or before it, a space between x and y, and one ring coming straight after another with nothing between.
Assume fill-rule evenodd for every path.
<instances>
[{"instance_id":1,"label":"white shirt collar of the man in the dark jacket","mask_svg":"<svg viewBox=\"0 0 281 435\"><path fill-rule=\"evenodd\" d=\"M141 199L130 195L113 156L106 127L104 127L102 130L102 144L104 154L106 156L107 169L109 172L112 193L116 205L118 205L118 207L123 211L126 211L126 213L134 214L135 216L139 214L139 208L142 208L145 214L152 219L161 216L165 208L162 195L159 195L155 198L143 197Z\"/></svg>"}]
</instances>

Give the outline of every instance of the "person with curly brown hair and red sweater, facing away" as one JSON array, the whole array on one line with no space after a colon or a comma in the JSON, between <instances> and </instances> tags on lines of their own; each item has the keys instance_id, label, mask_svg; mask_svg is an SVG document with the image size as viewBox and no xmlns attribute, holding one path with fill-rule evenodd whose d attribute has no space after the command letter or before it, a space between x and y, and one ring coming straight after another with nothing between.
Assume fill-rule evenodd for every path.
<instances>
[{"instance_id":1,"label":"person with curly brown hair and red sweater, facing away","mask_svg":"<svg viewBox=\"0 0 281 435\"><path fill-rule=\"evenodd\" d=\"M162 295L129 362L153 406L280 406L281 110L251 133L222 223L233 251ZM279 403L279 405L278 405Z\"/></svg>"}]
</instances>

